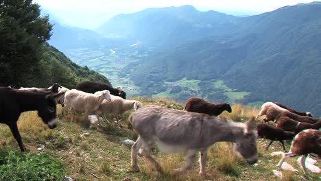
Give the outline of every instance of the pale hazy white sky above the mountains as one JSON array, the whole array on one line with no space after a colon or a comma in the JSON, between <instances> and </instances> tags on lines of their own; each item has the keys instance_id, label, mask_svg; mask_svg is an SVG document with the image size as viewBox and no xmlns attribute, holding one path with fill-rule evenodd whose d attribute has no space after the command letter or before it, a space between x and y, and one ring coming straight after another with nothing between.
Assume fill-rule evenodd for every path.
<instances>
[{"instance_id":1,"label":"pale hazy white sky above the mountains","mask_svg":"<svg viewBox=\"0 0 321 181\"><path fill-rule=\"evenodd\" d=\"M34 0L67 23L93 29L112 16L130 14L146 8L193 5L197 10L215 10L233 15L253 15L285 5L309 3L307 0Z\"/></svg>"}]
</instances>

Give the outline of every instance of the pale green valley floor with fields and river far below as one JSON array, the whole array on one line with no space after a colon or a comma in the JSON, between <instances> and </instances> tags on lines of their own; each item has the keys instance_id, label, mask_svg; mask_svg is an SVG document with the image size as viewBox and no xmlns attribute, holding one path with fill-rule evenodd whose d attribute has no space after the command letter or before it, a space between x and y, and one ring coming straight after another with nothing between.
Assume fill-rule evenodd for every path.
<instances>
[{"instance_id":1,"label":"pale green valley floor with fields and river far below","mask_svg":"<svg viewBox=\"0 0 321 181\"><path fill-rule=\"evenodd\" d=\"M112 86L123 87L128 96L145 96L144 93L141 93L141 87L136 86L130 79L130 74L133 71L130 64L139 64L141 61L145 61L144 58L148 57L150 49L132 45L118 45L115 48L101 46L98 49L70 49L66 55L73 62L81 66L87 66L89 69L106 76ZM246 95L250 94L229 88L224 81L216 79L202 82L182 78L175 82L158 83L163 88L155 88L150 96L152 98L167 98L184 102L186 97L194 96L234 103L235 101L241 101ZM150 95L150 93L147 93L147 95Z\"/></svg>"}]
</instances>

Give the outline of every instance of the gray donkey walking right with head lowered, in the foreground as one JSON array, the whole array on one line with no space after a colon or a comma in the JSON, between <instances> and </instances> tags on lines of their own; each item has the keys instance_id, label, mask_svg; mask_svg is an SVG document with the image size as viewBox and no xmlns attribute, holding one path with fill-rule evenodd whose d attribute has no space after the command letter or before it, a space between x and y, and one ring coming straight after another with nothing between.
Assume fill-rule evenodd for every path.
<instances>
[{"instance_id":1,"label":"gray donkey walking right with head lowered, in the foreground","mask_svg":"<svg viewBox=\"0 0 321 181\"><path fill-rule=\"evenodd\" d=\"M208 148L216 142L237 143L235 150L250 165L257 162L257 132L254 121L235 123L207 114L172 110L161 106L145 106L130 114L130 121L139 138L132 146L132 168L139 171L137 153L145 156L157 171L163 168L150 155L154 143L161 152L187 152L187 162L176 173L191 169L195 156L200 152L200 175L206 174L205 162Z\"/></svg>"}]
</instances>

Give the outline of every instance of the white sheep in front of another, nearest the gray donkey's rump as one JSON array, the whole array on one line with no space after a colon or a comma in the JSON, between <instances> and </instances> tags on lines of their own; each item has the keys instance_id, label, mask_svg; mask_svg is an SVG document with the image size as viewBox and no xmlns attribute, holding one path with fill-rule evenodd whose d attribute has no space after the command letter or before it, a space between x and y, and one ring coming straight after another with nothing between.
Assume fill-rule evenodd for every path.
<instances>
[{"instance_id":1,"label":"white sheep in front of another, nearest the gray donkey's rump","mask_svg":"<svg viewBox=\"0 0 321 181\"><path fill-rule=\"evenodd\" d=\"M101 91L96 92L95 94L99 94ZM102 112L104 119L109 122L104 114L111 114L113 115L117 120L117 125L119 125L119 116L123 118L123 112L126 110L137 110L138 108L143 107L143 104L140 101L136 100L128 100L123 99L119 96L110 95L111 100L110 101L102 101L102 104L99 106L99 111ZM98 114L96 115L98 117ZM99 119L98 119L99 125L101 125Z\"/></svg>"}]
</instances>

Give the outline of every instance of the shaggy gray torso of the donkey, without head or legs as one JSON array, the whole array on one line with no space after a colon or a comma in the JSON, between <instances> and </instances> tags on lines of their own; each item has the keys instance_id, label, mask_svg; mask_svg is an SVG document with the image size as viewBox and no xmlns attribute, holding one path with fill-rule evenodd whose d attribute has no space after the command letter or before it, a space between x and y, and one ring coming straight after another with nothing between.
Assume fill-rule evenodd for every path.
<instances>
[{"instance_id":1,"label":"shaggy gray torso of the donkey, without head or legs","mask_svg":"<svg viewBox=\"0 0 321 181\"><path fill-rule=\"evenodd\" d=\"M212 138L208 143L210 132L219 131L223 125L219 118L206 114L161 106L145 106L136 110L130 115L130 121L144 141L156 142L160 150L167 153L208 147L215 142L215 138ZM213 124L215 126L211 126ZM170 145L175 149L171 149Z\"/></svg>"}]
</instances>

